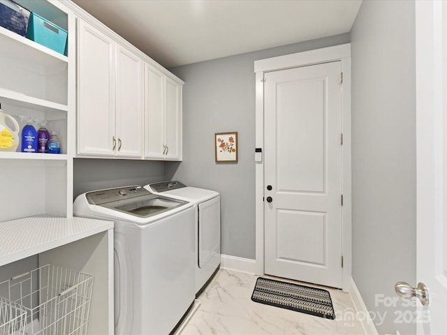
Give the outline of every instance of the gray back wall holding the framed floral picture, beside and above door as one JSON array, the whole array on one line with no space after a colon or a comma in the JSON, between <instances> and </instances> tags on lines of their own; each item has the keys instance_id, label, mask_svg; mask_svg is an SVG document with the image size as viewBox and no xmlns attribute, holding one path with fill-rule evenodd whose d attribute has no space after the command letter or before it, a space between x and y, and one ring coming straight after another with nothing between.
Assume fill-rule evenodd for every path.
<instances>
[{"instance_id":1,"label":"gray back wall holding the framed floral picture, beside and above door","mask_svg":"<svg viewBox=\"0 0 447 335\"><path fill-rule=\"evenodd\" d=\"M170 68L185 81L182 164L167 179L221 193L222 253L255 258L254 61L349 43L349 34ZM214 162L214 133L237 131L239 161Z\"/></svg>"}]
</instances>

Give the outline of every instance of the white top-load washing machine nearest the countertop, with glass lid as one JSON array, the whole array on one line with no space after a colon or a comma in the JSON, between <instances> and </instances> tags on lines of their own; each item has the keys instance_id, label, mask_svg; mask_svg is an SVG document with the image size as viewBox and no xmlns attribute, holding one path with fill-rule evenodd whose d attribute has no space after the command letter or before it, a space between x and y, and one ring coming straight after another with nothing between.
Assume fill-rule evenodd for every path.
<instances>
[{"instance_id":1,"label":"white top-load washing machine nearest the countertop, with glass lid","mask_svg":"<svg viewBox=\"0 0 447 335\"><path fill-rule=\"evenodd\" d=\"M193 203L128 186L79 195L73 213L115 221L115 334L172 332L196 297Z\"/></svg>"}]
</instances>

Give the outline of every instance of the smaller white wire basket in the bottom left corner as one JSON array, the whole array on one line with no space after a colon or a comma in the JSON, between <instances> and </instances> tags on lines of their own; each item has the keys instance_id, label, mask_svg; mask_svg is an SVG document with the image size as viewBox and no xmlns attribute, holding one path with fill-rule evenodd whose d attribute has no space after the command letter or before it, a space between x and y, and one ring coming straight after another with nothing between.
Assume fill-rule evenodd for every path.
<instances>
[{"instance_id":1,"label":"smaller white wire basket in the bottom left corner","mask_svg":"<svg viewBox=\"0 0 447 335\"><path fill-rule=\"evenodd\" d=\"M0 297L0 335L24 335L27 311L15 302Z\"/></svg>"}]
</instances>

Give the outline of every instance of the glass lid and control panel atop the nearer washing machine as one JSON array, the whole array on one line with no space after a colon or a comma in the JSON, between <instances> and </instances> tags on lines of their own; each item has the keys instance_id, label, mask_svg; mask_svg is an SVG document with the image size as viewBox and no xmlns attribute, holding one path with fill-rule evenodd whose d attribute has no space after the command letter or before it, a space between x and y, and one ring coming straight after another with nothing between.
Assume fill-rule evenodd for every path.
<instances>
[{"instance_id":1,"label":"glass lid and control panel atop the nearer washing machine","mask_svg":"<svg viewBox=\"0 0 447 335\"><path fill-rule=\"evenodd\" d=\"M85 193L87 202L138 218L149 218L188 202L152 194L141 186L111 188Z\"/></svg>"}]
</instances>

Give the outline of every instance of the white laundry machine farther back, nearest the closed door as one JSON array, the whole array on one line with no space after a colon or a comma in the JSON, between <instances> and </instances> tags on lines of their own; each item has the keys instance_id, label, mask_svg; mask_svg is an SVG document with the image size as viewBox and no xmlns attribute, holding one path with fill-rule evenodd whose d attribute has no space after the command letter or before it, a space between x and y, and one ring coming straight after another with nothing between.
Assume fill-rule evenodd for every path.
<instances>
[{"instance_id":1,"label":"white laundry machine farther back, nearest the closed door","mask_svg":"<svg viewBox=\"0 0 447 335\"><path fill-rule=\"evenodd\" d=\"M221 198L218 192L179 181L146 185L152 193L192 202L196 211L196 293L221 264Z\"/></svg>"}]
</instances>

